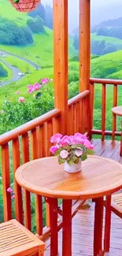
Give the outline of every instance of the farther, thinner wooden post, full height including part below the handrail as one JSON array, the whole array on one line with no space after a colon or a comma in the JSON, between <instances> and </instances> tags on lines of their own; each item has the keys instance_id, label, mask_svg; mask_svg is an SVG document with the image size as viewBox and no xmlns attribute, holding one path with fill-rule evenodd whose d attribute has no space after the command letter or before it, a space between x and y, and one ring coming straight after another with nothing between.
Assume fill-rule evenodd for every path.
<instances>
[{"instance_id":1,"label":"farther, thinner wooden post, full height including part below the handrail","mask_svg":"<svg viewBox=\"0 0 122 256\"><path fill-rule=\"evenodd\" d=\"M89 90L90 85L90 68L91 68L91 0L79 0L79 92ZM92 102L91 93L88 95L84 111L87 109L87 120L83 121L83 130L88 132L91 139L92 129ZM85 129L87 128L87 129Z\"/></svg>"}]
</instances>

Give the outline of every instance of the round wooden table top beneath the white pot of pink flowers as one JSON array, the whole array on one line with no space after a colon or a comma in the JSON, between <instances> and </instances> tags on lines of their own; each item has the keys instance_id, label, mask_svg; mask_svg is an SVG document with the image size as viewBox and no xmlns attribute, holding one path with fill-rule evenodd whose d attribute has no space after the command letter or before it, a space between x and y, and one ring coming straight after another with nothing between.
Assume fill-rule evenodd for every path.
<instances>
[{"instance_id":1,"label":"round wooden table top beneath the white pot of pink flowers","mask_svg":"<svg viewBox=\"0 0 122 256\"><path fill-rule=\"evenodd\" d=\"M122 187L122 165L107 158L89 156L80 173L67 173L56 157L41 158L21 165L17 183L37 195L65 199L98 198Z\"/></svg>"}]
</instances>

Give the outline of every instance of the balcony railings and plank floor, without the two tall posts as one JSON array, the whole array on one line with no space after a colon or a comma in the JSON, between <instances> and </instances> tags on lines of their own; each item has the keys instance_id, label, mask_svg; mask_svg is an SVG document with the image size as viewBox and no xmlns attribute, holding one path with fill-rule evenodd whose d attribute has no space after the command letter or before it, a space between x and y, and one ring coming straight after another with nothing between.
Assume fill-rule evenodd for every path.
<instances>
[{"instance_id":1,"label":"balcony railings and plank floor, without the two tall posts","mask_svg":"<svg viewBox=\"0 0 122 256\"><path fill-rule=\"evenodd\" d=\"M95 154L98 154L104 158L112 158L115 161L122 162L120 158L120 141L115 140L115 135L119 138L120 131L116 129L116 119L111 116L111 122L113 124L112 131L106 131L105 129L105 90L108 84L113 86L113 106L116 106L117 102L117 87L121 84L120 81L113 80L90 80L91 89L79 93L76 97L68 100L68 135L72 135L75 132L87 133L87 135L94 136L99 135L99 139L94 139ZM95 83L102 87L102 113L101 117L101 130L90 128L89 117L92 116L92 124L94 123L94 94ZM102 84L102 85L100 85ZM116 94L115 94L116 91ZM88 107L89 96L92 95L91 115ZM119 95L118 95L119 96ZM89 113L88 113L89 112ZM25 224L25 226L32 232L36 232L39 236L42 236L42 230L39 220L41 220L42 214L45 215L45 210L41 204L43 202L41 197L36 198L35 213L32 213L31 208L34 204L34 195L30 195L28 191L22 193L20 187L14 180L14 173L19 165L24 162L30 161L35 158L43 158L50 156L50 136L55 132L61 132L61 110L54 109L50 113L46 113L42 117L38 117L33 121L28 122L0 135L0 147L1 147L1 159L2 159L2 187L3 187L3 207L4 207L4 220L8 221L14 214L16 214L17 221ZM105 140L105 136L111 136L111 139ZM14 183L14 191L16 194L16 200L12 202L12 198L7 192L7 188ZM2 196L2 195L1 195ZM24 200L24 204L23 204ZM15 206L14 206L15 203ZM14 211L15 207L15 211ZM19 209L19 211L18 211ZM35 214L35 216L34 216ZM94 204L89 210L79 210L76 217L73 219L73 242L72 251L73 255L92 255L92 240L93 240L93 215ZM35 225L34 223L35 219ZM44 223L43 223L44 224ZM44 228L44 236L50 232L50 222L48 215L48 205L46 205L46 226ZM122 223L119 217L113 215L113 228L112 228L112 241L111 252L112 255L120 256L122 254L121 247L121 234ZM59 248L61 251L61 232L59 232ZM46 240L46 255L50 254L50 240ZM59 253L60 255L60 253Z\"/></svg>"}]
</instances>

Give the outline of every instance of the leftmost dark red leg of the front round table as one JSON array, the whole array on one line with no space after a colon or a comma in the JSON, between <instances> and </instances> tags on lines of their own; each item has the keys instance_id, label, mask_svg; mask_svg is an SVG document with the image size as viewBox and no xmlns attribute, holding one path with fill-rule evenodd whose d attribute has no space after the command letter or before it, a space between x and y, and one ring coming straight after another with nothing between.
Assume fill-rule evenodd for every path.
<instances>
[{"instance_id":1,"label":"leftmost dark red leg of the front round table","mask_svg":"<svg viewBox=\"0 0 122 256\"><path fill-rule=\"evenodd\" d=\"M50 256L58 254L57 198L48 198L50 205Z\"/></svg>"}]
</instances>

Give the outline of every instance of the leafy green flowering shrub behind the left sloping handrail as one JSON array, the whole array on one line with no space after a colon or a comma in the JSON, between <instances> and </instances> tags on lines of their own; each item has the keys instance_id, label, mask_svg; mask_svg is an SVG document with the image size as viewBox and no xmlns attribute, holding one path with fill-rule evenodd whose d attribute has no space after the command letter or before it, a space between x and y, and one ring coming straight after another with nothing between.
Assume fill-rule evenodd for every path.
<instances>
[{"instance_id":1,"label":"leafy green flowering shrub behind the left sloping handrail","mask_svg":"<svg viewBox=\"0 0 122 256\"><path fill-rule=\"evenodd\" d=\"M0 111L0 134L8 132L21 124L31 121L54 109L54 90L51 83L41 89L42 95L28 95L27 98L18 97L19 100L6 100Z\"/></svg>"}]
</instances>

